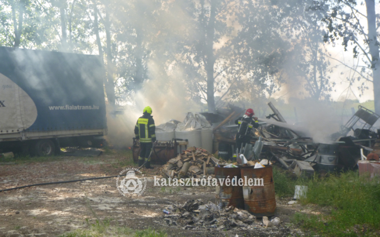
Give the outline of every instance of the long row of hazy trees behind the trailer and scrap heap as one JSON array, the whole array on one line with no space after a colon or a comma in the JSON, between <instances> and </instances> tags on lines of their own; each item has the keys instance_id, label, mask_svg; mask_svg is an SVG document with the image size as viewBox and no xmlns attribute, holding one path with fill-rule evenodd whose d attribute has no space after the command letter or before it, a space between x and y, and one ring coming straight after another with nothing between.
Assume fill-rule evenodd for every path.
<instances>
[{"instance_id":1,"label":"long row of hazy trees behind the trailer and scrap heap","mask_svg":"<svg viewBox=\"0 0 380 237\"><path fill-rule=\"evenodd\" d=\"M271 97L295 78L316 100L329 99L334 86L320 24L332 7L322 2L313 9L306 0L0 3L0 45L100 55L111 105L174 71L186 84L184 96L210 112L225 100Z\"/></svg>"}]
</instances>

